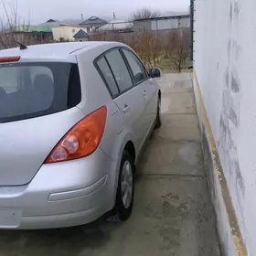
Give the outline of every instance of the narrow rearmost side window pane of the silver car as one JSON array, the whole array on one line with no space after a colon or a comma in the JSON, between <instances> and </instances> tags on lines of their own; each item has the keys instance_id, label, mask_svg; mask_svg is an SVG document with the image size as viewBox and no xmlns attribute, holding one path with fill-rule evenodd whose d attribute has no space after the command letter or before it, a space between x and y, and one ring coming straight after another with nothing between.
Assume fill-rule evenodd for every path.
<instances>
[{"instance_id":1,"label":"narrow rearmost side window pane of the silver car","mask_svg":"<svg viewBox=\"0 0 256 256\"><path fill-rule=\"evenodd\" d=\"M101 59L97 61L97 65L98 68L101 70L101 75L103 76L104 80L106 80L112 96L117 95L119 93L119 90L112 76L112 70L110 69L110 66L106 61L105 57L101 57Z\"/></svg>"}]
</instances>

